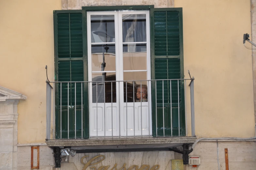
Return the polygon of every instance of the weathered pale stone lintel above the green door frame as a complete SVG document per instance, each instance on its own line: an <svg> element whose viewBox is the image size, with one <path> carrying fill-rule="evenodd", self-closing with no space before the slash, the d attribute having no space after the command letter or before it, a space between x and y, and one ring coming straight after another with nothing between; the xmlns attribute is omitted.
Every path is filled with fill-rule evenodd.
<svg viewBox="0 0 256 170"><path fill-rule="evenodd" d="M82 9L84 6L154 5L155 8L174 7L174 0L62 0L62 9Z"/></svg>

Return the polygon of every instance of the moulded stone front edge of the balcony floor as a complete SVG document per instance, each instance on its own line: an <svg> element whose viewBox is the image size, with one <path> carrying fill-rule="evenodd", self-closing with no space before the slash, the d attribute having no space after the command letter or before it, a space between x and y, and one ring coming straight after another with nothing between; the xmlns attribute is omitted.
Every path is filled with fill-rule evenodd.
<svg viewBox="0 0 256 170"><path fill-rule="evenodd" d="M194 143L196 137L162 137L162 138L90 138L90 139L58 139L46 140L49 147L64 147L64 146L116 146L116 145L156 145L158 147L179 146L183 143Z"/></svg>

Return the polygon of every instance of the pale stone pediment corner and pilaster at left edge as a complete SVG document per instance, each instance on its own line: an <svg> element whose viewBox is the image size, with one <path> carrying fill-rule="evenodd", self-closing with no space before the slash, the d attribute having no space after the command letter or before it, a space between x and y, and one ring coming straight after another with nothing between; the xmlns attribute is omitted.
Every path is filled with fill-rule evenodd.
<svg viewBox="0 0 256 170"><path fill-rule="evenodd" d="M17 105L25 99L23 94L0 86L0 170L17 169Z"/></svg>

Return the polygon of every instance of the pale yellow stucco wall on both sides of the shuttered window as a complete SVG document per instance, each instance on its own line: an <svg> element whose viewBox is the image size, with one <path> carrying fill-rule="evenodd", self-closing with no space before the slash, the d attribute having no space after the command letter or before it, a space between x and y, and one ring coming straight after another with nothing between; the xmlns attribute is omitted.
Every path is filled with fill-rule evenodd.
<svg viewBox="0 0 256 170"><path fill-rule="evenodd" d="M184 72L196 79L196 134L253 136L251 50L242 44L251 32L250 0L174 3L183 8ZM44 67L53 80L53 10L59 9L61 0L0 1L0 85L27 97L18 105L18 143L45 139Z"/></svg>

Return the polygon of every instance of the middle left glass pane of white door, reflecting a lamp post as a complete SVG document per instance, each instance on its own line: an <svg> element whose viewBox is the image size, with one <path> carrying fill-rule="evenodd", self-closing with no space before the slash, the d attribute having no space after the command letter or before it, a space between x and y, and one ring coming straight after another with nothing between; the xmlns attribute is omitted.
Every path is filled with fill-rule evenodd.
<svg viewBox="0 0 256 170"><path fill-rule="evenodd" d="M116 52L114 44L91 46L92 71L115 71ZM105 63L105 64L104 64Z"/></svg>

